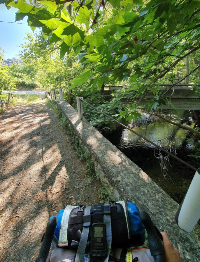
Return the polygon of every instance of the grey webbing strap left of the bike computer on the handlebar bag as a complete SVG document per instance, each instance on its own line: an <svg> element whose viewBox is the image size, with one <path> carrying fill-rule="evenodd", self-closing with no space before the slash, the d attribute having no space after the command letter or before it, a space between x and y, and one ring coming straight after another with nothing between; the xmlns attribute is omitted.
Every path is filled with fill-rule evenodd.
<svg viewBox="0 0 200 262"><path fill-rule="evenodd" d="M84 217L90 216L90 208L91 206L86 206ZM85 223L83 223L83 231L80 237L80 243L79 243L78 250L76 253L75 262L82 262L84 254L85 254L85 248L87 245L87 239L88 239L88 234L89 234L89 229L90 229L90 223L86 223L86 226L84 226L84 224Z"/></svg>

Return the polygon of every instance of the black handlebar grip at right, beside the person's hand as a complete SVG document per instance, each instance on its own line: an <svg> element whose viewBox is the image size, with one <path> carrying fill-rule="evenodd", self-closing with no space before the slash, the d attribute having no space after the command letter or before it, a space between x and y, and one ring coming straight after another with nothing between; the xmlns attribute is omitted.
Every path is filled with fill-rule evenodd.
<svg viewBox="0 0 200 262"><path fill-rule="evenodd" d="M164 247L149 214L146 211L141 211L140 218L148 234L149 249L151 251L151 255L154 256L154 261L164 262Z"/></svg>

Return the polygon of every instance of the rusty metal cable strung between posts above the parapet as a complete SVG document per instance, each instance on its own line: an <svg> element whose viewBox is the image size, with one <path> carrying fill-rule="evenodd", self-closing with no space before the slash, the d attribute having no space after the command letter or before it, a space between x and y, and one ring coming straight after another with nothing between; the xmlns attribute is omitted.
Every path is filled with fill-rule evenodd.
<svg viewBox="0 0 200 262"><path fill-rule="evenodd" d="M68 93L72 94L73 96L76 96L75 94L73 94L72 92L70 92L67 89L64 89L62 87L63 90L67 91ZM141 137L142 139L144 139L145 141L147 141L148 143L152 144L153 146L155 146L156 148L162 150L163 152L165 152L166 154L168 154L169 156L175 158L177 161L179 161L180 163L184 164L185 166L191 168L194 171L197 171L197 168L195 168L194 166L188 164L187 162L185 162L184 160L180 159L178 156L175 156L174 154L172 154L171 152L167 151L166 149L162 148L161 146L158 146L157 144L155 144L154 142L150 141L149 139L147 139L146 137L143 137L142 135L140 135L139 133L135 132L134 130L132 130L131 128L127 127L126 125L120 123L119 121L117 121L116 119L112 118L111 116L107 115L106 113L104 113L103 111L99 110L98 108L96 108L95 106L92 106L91 104L89 104L87 101L81 99L79 96L76 96L78 99L80 99L80 101L84 102L85 104L88 104L89 106L91 106L92 108L96 109L97 111L99 111L100 113L102 113L104 116L112 119L114 122L118 123L119 125L121 125L122 127L128 129L129 131L133 132L134 134L136 134L137 136Z"/></svg>

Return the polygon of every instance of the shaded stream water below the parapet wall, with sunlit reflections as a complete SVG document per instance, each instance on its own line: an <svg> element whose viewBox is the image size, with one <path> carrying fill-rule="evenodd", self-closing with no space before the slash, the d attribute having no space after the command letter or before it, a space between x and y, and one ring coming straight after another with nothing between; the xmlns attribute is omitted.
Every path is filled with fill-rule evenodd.
<svg viewBox="0 0 200 262"><path fill-rule="evenodd" d="M169 111L166 110L165 113L169 114ZM179 123L194 125L189 111L180 110L171 113L172 118ZM133 128L143 136L145 129L145 121L143 125ZM106 138L147 173L175 201L178 203L182 201L194 176L194 170L172 157L169 157L169 161L168 158L164 160L159 149L127 129L115 131ZM146 138L176 154L192 166L196 168L200 166L198 159L189 156L194 153L194 138L187 130L157 118L155 122L147 126ZM163 151L161 154L163 157L166 156ZM161 158L165 162L162 168Z"/></svg>

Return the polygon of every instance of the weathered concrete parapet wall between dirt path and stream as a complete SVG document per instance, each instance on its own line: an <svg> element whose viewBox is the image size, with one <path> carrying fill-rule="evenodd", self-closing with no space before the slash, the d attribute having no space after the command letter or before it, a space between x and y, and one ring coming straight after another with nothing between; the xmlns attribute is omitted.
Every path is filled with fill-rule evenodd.
<svg viewBox="0 0 200 262"><path fill-rule="evenodd" d="M140 210L147 211L158 229L167 232L184 261L199 262L199 225L196 225L190 233L181 230L174 221L179 205L90 123L85 119L78 120L77 111L66 101L54 100L54 102L90 152L95 170L108 192L117 199L134 202Z"/></svg>

